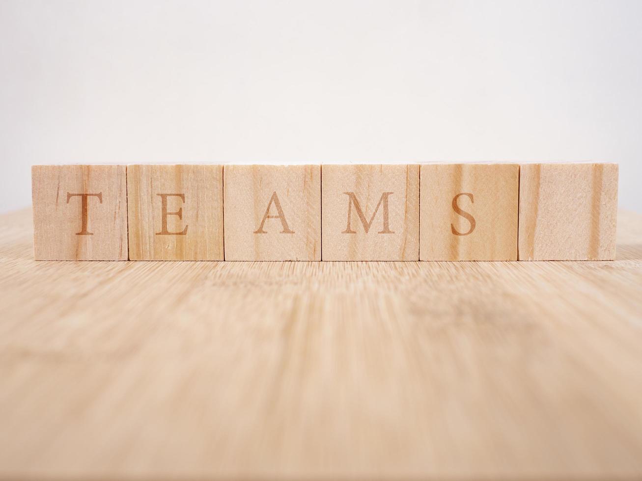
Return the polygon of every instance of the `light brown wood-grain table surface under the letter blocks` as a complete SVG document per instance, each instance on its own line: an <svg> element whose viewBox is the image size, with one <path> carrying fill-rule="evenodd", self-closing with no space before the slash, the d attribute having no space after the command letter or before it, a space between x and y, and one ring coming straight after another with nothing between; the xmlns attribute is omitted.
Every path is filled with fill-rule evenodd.
<svg viewBox="0 0 642 481"><path fill-rule="evenodd" d="M0 477L641 478L615 262L35 262L0 216Z"/></svg>

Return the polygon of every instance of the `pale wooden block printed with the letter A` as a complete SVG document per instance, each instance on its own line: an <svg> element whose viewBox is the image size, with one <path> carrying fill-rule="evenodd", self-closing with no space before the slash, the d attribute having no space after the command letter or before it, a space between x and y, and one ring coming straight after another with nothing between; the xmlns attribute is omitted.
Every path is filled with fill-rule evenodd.
<svg viewBox="0 0 642 481"><path fill-rule="evenodd" d="M320 165L225 165L225 260L321 260Z"/></svg>

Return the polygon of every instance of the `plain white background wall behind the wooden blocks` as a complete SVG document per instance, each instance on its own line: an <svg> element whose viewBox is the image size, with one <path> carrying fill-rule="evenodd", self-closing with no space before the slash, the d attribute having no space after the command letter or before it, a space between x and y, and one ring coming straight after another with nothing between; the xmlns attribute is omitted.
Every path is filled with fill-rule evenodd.
<svg viewBox="0 0 642 481"><path fill-rule="evenodd" d="M0 0L0 210L31 164L620 163L642 1Z"/></svg>

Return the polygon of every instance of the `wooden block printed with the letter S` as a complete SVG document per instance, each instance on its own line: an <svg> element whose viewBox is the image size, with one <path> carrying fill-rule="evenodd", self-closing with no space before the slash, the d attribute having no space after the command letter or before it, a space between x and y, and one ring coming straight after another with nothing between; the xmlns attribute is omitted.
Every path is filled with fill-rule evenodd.
<svg viewBox="0 0 642 481"><path fill-rule="evenodd" d="M421 166L421 260L517 260L519 165Z"/></svg>

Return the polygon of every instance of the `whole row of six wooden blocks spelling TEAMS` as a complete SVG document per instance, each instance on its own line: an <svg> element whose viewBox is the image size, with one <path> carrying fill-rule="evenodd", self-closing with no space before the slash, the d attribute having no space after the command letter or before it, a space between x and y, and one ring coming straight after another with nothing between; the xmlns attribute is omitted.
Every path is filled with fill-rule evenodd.
<svg viewBox="0 0 642 481"><path fill-rule="evenodd" d="M617 164L35 165L37 260L611 260Z"/></svg>

